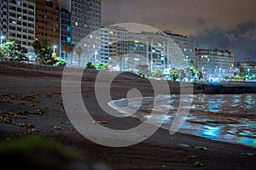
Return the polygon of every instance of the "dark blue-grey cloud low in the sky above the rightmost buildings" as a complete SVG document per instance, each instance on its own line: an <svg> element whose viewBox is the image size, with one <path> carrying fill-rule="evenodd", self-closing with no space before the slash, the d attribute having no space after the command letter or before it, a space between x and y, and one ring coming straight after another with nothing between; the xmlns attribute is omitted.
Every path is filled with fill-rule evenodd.
<svg viewBox="0 0 256 170"><path fill-rule="evenodd" d="M241 24L232 31L218 29L191 38L197 42L197 48L227 48L235 54L237 61L245 57L256 61L255 31L256 20Z"/></svg>

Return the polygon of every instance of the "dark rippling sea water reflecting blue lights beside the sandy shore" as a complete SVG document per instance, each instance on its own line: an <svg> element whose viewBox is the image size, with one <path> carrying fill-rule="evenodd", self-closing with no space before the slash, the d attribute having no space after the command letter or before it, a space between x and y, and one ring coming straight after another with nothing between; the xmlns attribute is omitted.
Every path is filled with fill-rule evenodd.
<svg viewBox="0 0 256 170"><path fill-rule="evenodd" d="M178 132L256 147L256 94L194 94L193 97L182 98L173 94L159 98L162 99L156 101L151 99L155 102L154 105L152 102L140 105L141 103L137 101L141 99L130 99L129 105L123 105L125 108L123 111L122 107L118 110L120 114L125 114L129 112L127 111L129 108L134 111L139 104L143 109L139 114L132 116L142 121L145 119L164 121L161 127L169 129L177 114L180 101L186 102L192 99L192 105L183 105L184 108L189 107L189 115L183 117L184 122ZM121 100L124 104L124 99ZM158 114L151 116L150 110L157 111ZM164 114L166 110L168 115Z"/></svg>

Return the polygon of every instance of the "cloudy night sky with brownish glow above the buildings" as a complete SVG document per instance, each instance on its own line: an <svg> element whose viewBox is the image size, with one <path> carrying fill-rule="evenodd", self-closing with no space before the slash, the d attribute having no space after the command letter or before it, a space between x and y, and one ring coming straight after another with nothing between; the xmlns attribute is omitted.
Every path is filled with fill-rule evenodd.
<svg viewBox="0 0 256 170"><path fill-rule="evenodd" d="M65 2L65 0L61 0ZM67 2L67 1L66 1ZM102 0L102 26L139 23L256 61L256 0Z"/></svg>

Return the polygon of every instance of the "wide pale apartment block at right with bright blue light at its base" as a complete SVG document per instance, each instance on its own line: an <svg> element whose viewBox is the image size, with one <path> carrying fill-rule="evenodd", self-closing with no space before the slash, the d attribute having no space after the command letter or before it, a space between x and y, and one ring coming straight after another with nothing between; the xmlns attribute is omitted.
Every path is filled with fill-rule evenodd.
<svg viewBox="0 0 256 170"><path fill-rule="evenodd" d="M234 76L234 54L228 49L195 49L195 65L207 79Z"/></svg>

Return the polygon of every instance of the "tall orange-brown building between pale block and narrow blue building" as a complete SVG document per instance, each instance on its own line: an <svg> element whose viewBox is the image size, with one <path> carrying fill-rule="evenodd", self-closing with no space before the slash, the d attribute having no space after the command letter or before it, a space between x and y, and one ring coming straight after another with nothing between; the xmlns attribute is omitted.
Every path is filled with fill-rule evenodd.
<svg viewBox="0 0 256 170"><path fill-rule="evenodd" d="M57 0L37 0L36 7L36 38L40 42L48 42L59 55L60 5Z"/></svg>

